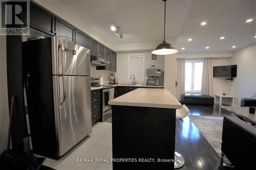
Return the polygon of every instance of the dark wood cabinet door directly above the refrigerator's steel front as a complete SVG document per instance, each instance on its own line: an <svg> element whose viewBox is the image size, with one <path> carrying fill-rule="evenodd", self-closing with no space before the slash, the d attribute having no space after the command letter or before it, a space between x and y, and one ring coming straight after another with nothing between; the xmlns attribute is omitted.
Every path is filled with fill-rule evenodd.
<svg viewBox="0 0 256 170"><path fill-rule="evenodd" d="M57 17L55 18L55 33L57 37L75 42L75 28Z"/></svg>

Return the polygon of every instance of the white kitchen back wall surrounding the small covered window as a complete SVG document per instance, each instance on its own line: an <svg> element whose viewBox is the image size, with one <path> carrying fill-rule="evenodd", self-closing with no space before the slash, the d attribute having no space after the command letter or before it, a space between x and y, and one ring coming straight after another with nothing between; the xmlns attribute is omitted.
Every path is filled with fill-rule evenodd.
<svg viewBox="0 0 256 170"><path fill-rule="evenodd" d="M164 70L164 56L157 56L157 60L152 60L151 52L144 53L122 53L117 54L117 72L116 78L118 78L119 83L127 83L128 78L128 55L144 54L145 55L145 64L144 64L144 81L137 83L146 83L146 68L150 68L152 65L155 65L156 68L161 68ZM164 73L165 74L165 73Z"/></svg>

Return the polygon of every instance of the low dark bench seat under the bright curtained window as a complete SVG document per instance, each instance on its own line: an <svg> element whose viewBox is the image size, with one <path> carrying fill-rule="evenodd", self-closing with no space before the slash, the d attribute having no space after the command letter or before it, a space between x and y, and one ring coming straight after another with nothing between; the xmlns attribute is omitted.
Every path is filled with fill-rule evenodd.
<svg viewBox="0 0 256 170"><path fill-rule="evenodd" d="M197 105L214 105L214 98L206 94L182 94L182 103Z"/></svg>

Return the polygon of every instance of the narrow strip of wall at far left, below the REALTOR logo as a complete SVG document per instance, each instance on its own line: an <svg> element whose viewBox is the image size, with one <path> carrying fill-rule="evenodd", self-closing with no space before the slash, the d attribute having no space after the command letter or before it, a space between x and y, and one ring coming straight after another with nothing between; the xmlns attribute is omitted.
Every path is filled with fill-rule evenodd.
<svg viewBox="0 0 256 170"><path fill-rule="evenodd" d="M8 108L6 36L0 36L0 154L7 149Z"/></svg>

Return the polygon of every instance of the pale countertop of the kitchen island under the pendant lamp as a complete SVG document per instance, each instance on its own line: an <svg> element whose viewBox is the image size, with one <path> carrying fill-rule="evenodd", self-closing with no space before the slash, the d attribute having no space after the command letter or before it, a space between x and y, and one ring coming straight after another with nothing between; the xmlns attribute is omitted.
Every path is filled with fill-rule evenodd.
<svg viewBox="0 0 256 170"><path fill-rule="evenodd" d="M137 88L109 101L110 105L180 109L182 106L167 89Z"/></svg>

